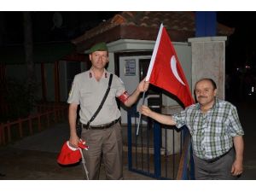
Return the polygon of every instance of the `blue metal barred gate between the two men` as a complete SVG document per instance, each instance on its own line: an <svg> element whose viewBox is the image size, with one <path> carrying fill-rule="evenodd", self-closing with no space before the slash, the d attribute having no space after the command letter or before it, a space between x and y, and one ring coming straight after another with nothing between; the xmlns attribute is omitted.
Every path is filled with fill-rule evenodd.
<svg viewBox="0 0 256 192"><path fill-rule="evenodd" d="M157 179L176 179L183 148L183 136L187 130L181 129L177 134L174 126L160 125L152 119L145 118L143 120L146 124L141 123L137 136L138 116L136 108L128 110L129 170Z"/></svg>

